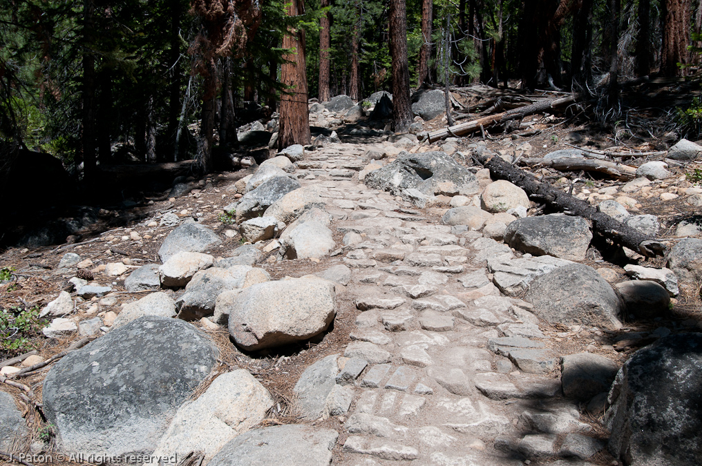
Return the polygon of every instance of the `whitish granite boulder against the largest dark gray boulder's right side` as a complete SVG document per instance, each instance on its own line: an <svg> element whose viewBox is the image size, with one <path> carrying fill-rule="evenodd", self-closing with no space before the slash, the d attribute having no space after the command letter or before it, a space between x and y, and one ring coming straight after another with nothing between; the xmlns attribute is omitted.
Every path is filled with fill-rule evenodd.
<svg viewBox="0 0 702 466"><path fill-rule="evenodd" d="M249 371L222 374L197 400L178 409L153 456L183 458L200 451L209 461L227 441L265 419L271 406L270 393Z"/></svg>

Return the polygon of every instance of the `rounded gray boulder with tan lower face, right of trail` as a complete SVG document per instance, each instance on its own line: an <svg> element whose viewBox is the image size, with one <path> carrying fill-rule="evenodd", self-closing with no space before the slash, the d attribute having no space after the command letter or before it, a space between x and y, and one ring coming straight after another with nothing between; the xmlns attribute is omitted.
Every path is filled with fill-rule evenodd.
<svg viewBox="0 0 702 466"><path fill-rule="evenodd" d="M527 300L534 305L534 313L550 324L621 328L621 300L587 265L566 265L541 275L531 282Z"/></svg>

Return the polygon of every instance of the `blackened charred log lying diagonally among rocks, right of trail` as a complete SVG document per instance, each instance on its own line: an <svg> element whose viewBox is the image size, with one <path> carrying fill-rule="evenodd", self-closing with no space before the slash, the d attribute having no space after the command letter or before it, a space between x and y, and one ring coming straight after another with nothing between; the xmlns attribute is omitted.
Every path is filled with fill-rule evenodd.
<svg viewBox="0 0 702 466"><path fill-rule="evenodd" d="M534 176L511 166L500 157L485 151L482 154L476 154L475 158L485 168L489 169L493 178L508 180L512 184L521 187L527 192L529 199L533 201L543 202L559 211L569 213L569 215L578 215L590 220L593 232L611 239L615 244L625 246L645 257L655 257L665 253L665 245L654 237L624 225L606 213L597 211L597 208L590 206L585 201L581 201L550 185L538 182Z"/></svg>

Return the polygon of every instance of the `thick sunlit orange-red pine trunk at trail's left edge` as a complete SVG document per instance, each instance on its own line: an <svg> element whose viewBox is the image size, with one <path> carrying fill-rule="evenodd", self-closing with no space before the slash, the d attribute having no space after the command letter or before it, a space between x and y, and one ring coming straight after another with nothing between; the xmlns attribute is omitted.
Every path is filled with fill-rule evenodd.
<svg viewBox="0 0 702 466"><path fill-rule="evenodd" d="M292 0L288 7L289 16L305 12L303 0ZM285 55L281 81L290 86L288 93L281 96L280 128L278 145L281 149L293 144L310 143L310 123L307 109L307 74L305 72L305 32L289 29L283 36L283 48L292 49L293 54Z"/></svg>

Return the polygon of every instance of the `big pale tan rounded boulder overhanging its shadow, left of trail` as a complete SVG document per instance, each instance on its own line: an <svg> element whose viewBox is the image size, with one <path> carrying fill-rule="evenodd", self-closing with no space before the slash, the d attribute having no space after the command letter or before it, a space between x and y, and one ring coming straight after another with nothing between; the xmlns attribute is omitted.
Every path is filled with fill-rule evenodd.
<svg viewBox="0 0 702 466"><path fill-rule="evenodd" d="M331 281L290 279L246 288L227 303L229 333L240 347L263 349L307 340L336 315Z"/></svg>

